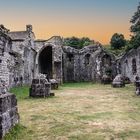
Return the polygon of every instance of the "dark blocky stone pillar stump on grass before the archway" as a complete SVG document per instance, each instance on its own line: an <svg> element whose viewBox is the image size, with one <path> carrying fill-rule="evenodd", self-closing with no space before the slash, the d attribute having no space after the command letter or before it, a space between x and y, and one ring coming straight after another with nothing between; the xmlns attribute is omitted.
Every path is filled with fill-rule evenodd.
<svg viewBox="0 0 140 140"><path fill-rule="evenodd" d="M44 98L54 96L54 93L51 93L51 83L48 82L45 75L40 74L32 80L29 96Z"/></svg>

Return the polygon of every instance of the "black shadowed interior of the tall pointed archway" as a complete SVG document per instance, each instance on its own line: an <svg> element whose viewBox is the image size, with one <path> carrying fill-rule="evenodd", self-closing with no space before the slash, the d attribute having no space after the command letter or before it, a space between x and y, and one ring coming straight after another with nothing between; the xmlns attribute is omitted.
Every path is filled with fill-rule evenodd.
<svg viewBox="0 0 140 140"><path fill-rule="evenodd" d="M47 46L39 55L39 72L52 78L52 47Z"/></svg>

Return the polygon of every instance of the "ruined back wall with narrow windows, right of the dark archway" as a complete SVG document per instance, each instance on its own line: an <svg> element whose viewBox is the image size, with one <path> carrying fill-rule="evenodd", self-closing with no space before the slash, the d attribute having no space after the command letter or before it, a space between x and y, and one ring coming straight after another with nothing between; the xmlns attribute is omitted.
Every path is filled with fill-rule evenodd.
<svg viewBox="0 0 140 140"><path fill-rule="evenodd" d="M104 56L107 58L104 60ZM115 58L107 54L100 44L84 47L81 50L63 47L64 82L100 81L107 68L113 72ZM108 63L104 63L108 62Z"/></svg>

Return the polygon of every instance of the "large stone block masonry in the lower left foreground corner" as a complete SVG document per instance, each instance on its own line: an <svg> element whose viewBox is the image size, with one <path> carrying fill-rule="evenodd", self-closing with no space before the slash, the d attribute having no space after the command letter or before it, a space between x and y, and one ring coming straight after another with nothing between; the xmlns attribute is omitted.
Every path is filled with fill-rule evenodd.
<svg viewBox="0 0 140 140"><path fill-rule="evenodd" d="M0 80L0 139L19 123L17 99L7 92L5 82Z"/></svg>

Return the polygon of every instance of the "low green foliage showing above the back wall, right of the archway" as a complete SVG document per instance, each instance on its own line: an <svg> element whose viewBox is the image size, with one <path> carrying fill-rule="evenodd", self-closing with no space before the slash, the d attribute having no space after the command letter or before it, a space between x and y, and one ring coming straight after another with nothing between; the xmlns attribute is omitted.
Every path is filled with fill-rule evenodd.
<svg viewBox="0 0 140 140"><path fill-rule="evenodd" d="M71 46L75 49L82 49L83 47L88 46L90 44L94 44L94 41L90 40L88 37L83 38L71 37L64 39L65 46Z"/></svg>

